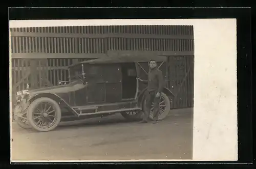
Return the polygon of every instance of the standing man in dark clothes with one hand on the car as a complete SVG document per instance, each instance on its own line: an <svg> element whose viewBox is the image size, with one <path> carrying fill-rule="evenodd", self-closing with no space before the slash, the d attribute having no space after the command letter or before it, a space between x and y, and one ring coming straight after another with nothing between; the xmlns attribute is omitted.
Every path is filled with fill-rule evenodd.
<svg viewBox="0 0 256 169"><path fill-rule="evenodd" d="M150 117L150 109L152 102L154 102L154 114L153 121L157 123L159 116L159 102L161 97L161 92L163 88L163 75L162 71L157 68L157 63L155 60L150 60L150 71L148 72L148 79L140 81L147 83L147 90L145 91L146 96L146 109L144 111L144 118L141 123L147 123Z"/></svg>

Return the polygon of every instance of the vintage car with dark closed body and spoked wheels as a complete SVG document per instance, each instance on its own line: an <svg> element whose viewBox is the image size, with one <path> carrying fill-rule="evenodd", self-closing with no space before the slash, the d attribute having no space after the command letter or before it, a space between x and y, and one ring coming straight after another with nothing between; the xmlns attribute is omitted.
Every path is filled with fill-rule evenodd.
<svg viewBox="0 0 256 169"><path fill-rule="evenodd" d="M128 120L141 120L145 106L148 61L155 59L168 81L166 57L106 57L69 67L69 81L59 86L17 92L14 119L20 127L44 132L60 121L74 121L120 113ZM173 93L165 83L159 120L170 111ZM152 114L150 116L152 119Z"/></svg>

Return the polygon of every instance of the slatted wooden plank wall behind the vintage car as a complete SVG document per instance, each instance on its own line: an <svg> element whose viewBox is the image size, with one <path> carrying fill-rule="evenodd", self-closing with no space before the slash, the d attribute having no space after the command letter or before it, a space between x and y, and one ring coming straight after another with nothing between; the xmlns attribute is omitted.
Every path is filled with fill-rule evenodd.
<svg viewBox="0 0 256 169"><path fill-rule="evenodd" d="M25 89L27 83L32 88L57 85L59 79L68 80L69 65L88 60L92 54L106 54L109 51L191 52L191 57L181 56L173 60L175 64L170 74L175 72L176 75L172 78L175 78L176 86L187 72L186 65L194 62L194 31L190 25L17 27L10 31L12 84L17 86L13 93ZM36 60L32 61L31 58L26 58L26 53L38 56L40 53L47 54L40 58L34 57ZM54 53L66 55L54 58ZM82 55L78 57L82 53L84 58ZM23 54L24 58L20 58L19 54ZM24 78L26 71L31 69L31 63L35 64L36 71L31 71L33 73ZM187 78L191 81L194 74L190 71ZM176 91L178 97L188 99L176 100L175 107L193 106L193 99L190 97L193 91L189 87L191 82L188 81L185 80L180 89L174 89L179 89L178 93Z"/></svg>

